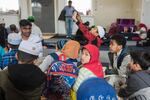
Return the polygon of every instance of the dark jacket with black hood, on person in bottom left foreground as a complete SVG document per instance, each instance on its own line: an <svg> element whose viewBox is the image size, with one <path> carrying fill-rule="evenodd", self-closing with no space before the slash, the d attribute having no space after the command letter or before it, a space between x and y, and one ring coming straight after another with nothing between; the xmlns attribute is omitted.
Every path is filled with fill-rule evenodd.
<svg viewBox="0 0 150 100"><path fill-rule="evenodd" d="M0 72L0 100L40 100L45 78L35 65L9 66Z"/></svg>

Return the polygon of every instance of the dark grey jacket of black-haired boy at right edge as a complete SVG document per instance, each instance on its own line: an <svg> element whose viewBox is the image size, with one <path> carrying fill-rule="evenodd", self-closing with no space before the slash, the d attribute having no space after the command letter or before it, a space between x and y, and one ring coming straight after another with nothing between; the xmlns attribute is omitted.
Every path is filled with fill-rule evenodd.
<svg viewBox="0 0 150 100"><path fill-rule="evenodd" d="M128 98L132 94L148 87L150 87L150 74L145 71L134 72L131 73L127 79L127 87L120 89L118 95L120 97Z"/></svg>

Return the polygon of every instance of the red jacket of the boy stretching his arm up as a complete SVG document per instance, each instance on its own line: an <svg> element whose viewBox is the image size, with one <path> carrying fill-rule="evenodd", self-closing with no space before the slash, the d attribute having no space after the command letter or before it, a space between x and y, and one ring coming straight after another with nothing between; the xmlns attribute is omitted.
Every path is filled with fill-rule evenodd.
<svg viewBox="0 0 150 100"><path fill-rule="evenodd" d="M87 38L89 44L92 44L92 41L94 41L96 39L97 40L96 46L98 48L101 46L103 41L100 37L94 36L82 22L77 22L77 25L78 25L79 29L82 31L84 37Z"/></svg>

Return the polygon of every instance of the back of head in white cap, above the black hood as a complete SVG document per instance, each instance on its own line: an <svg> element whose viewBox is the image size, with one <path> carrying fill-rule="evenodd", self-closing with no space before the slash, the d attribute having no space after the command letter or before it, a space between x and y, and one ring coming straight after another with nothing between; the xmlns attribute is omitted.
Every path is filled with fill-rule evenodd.
<svg viewBox="0 0 150 100"><path fill-rule="evenodd" d="M35 64L39 54L40 49L37 43L23 40L19 45L16 57L19 64Z"/></svg>

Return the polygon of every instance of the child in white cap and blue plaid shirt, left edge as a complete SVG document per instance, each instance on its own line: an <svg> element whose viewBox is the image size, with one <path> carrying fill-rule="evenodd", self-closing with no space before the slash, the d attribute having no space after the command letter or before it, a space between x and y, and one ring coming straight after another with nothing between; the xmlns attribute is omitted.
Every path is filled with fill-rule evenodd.
<svg viewBox="0 0 150 100"><path fill-rule="evenodd" d="M18 61L15 57L16 52L18 51L18 46L21 42L21 36L16 33L11 33L8 35L8 53L2 56L2 60L0 62L0 68L4 69L8 65L17 64Z"/></svg>

